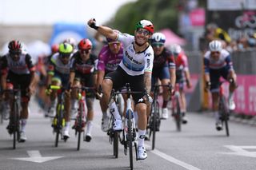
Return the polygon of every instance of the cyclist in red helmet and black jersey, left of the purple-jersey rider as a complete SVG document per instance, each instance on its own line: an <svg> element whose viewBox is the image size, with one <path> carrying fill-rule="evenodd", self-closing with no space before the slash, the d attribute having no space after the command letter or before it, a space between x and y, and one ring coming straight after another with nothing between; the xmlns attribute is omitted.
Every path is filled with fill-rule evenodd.
<svg viewBox="0 0 256 170"><path fill-rule="evenodd" d="M74 53L70 69L70 84L72 87L95 88L97 79L98 58L91 53L92 43L89 39L82 39L78 44L78 52ZM72 90L72 97L78 98L77 90ZM84 140L90 142L92 121L94 118L94 89L86 89L86 136Z"/></svg>

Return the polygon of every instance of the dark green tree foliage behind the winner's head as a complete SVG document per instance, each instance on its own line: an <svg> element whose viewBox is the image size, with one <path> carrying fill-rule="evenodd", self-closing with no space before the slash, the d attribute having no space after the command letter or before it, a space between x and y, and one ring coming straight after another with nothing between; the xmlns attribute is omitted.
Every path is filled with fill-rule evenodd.
<svg viewBox="0 0 256 170"><path fill-rule="evenodd" d="M138 0L122 6L108 23L110 27L123 33L134 34L135 24L142 20L150 20L155 30L178 29L178 0Z"/></svg>

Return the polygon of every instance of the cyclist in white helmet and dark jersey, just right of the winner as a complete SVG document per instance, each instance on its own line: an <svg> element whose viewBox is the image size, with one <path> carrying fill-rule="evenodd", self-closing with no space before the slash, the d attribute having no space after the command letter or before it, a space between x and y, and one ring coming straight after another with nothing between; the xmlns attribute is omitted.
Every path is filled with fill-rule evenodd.
<svg viewBox="0 0 256 170"><path fill-rule="evenodd" d="M175 85L175 63L174 57L168 49L165 48L166 36L162 33L154 33L150 39L151 45L154 49L154 64L152 71L151 86L153 87L155 81L158 79L162 85ZM153 92L154 89L151 89ZM170 100L170 93L167 87L163 87L162 92L163 103L162 103L162 118L168 118L167 103Z"/></svg>

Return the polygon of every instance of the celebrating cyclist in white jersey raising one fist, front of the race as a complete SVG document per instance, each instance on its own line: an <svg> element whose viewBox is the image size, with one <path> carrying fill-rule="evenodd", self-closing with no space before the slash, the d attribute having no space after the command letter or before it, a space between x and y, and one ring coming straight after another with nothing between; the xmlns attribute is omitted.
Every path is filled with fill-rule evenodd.
<svg viewBox="0 0 256 170"><path fill-rule="evenodd" d="M124 56L118 69L108 73L102 81L103 102L107 105L110 101L110 93L122 88L126 83L130 83L132 91L144 91L147 93L151 89L151 73L154 61L154 51L148 42L154 33L154 26L150 21L142 20L135 26L134 36L130 34L118 34L106 26L97 26L94 18L88 21L88 25L106 38L111 38L122 42L124 46ZM132 95L135 102L135 109L138 112L138 159L144 160L147 157L144 147L144 138L146 134L146 101L142 98L144 94L138 93ZM114 130L122 129L121 116L118 113L116 105L113 108L110 103L110 109L114 109Z"/></svg>

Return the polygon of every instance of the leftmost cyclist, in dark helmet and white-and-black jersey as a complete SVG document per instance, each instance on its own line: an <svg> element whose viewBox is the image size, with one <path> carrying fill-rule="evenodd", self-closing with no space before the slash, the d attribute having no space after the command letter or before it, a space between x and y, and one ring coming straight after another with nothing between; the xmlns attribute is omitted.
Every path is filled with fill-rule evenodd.
<svg viewBox="0 0 256 170"><path fill-rule="evenodd" d="M2 57L2 89L5 90L13 85L14 89L21 89L21 133L20 133L20 141L26 141L26 121L28 119L28 105L30 102L30 96L34 93L34 85L35 85L35 66L32 63L30 54L26 53L22 50L21 42L17 40L13 40L9 42L8 45L9 53L6 53ZM8 85L10 84L10 85ZM9 86L9 87L8 87ZM11 122L14 117L12 106L12 97L10 97L10 93L4 94L6 98L10 99L10 122L7 126L8 132L10 134L13 133L13 122Z"/></svg>

